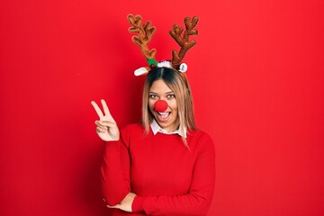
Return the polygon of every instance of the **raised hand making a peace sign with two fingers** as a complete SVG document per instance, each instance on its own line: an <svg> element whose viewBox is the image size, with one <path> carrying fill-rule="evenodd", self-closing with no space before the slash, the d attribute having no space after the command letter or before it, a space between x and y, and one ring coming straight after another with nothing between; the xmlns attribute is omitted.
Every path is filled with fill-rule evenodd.
<svg viewBox="0 0 324 216"><path fill-rule="evenodd" d="M116 121L113 120L112 114L109 112L107 103L102 99L101 103L103 104L103 112L94 101L91 104L94 106L95 112L99 116L99 121L94 121L96 131L101 139L104 141L112 141L120 139L120 131L117 127ZM104 115L103 115L104 113Z"/></svg>

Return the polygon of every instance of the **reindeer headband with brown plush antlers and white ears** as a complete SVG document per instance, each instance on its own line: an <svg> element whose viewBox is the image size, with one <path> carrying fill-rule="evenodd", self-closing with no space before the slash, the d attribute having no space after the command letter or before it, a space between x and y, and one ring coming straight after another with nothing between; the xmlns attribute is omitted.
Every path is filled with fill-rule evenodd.
<svg viewBox="0 0 324 216"><path fill-rule="evenodd" d="M184 18L185 24L185 31L182 27L179 27L177 24L174 24L173 29L169 31L169 34L172 38L180 46L180 51L176 52L176 50L172 51L172 60L171 61L162 61L157 62L156 54L157 49L149 49L148 43L152 39L156 28L152 26L152 23L148 21L148 23L142 24L142 17L140 15L133 16L132 14L128 15L128 20L132 27L130 27L130 32L138 33L138 36L132 36L131 40L139 45L139 49L147 58L148 67L140 67L139 69L135 70L135 76L145 75L148 74L152 68L155 67L170 67L175 68L175 70L184 73L187 70L187 65L185 63L181 63L184 59L186 52L193 48L196 44L195 40L189 40L191 35L197 35L198 31L194 29L196 24L198 23L199 18L197 16L193 16L193 19L190 17ZM184 31L184 35L182 33Z"/></svg>

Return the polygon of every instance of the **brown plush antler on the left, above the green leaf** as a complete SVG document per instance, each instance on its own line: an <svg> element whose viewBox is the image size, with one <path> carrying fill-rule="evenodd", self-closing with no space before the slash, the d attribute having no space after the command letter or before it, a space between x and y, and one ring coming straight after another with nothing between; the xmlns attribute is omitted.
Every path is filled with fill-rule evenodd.
<svg viewBox="0 0 324 216"><path fill-rule="evenodd" d="M133 40L134 43L139 45L139 48L145 58L155 59L157 50L156 49L149 50L148 43L152 39L152 36L155 33L156 28L152 26L152 24L149 21L148 23L141 25L142 17L140 15L136 15L134 17L132 14L129 14L127 18L130 24L132 25L129 31L139 33L139 36L133 36L131 40Z"/></svg>

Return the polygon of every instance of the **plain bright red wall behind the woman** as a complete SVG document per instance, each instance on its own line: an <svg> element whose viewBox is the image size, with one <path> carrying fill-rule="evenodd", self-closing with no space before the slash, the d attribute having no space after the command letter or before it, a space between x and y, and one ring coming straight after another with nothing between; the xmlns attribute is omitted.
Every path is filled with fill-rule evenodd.
<svg viewBox="0 0 324 216"><path fill-rule="evenodd" d="M171 4L172 3L172 4ZM216 145L209 215L324 214L324 2L0 3L0 214L109 215L91 100L122 127L140 120L146 65L127 14L157 26L151 48L198 15L185 62L195 115Z"/></svg>

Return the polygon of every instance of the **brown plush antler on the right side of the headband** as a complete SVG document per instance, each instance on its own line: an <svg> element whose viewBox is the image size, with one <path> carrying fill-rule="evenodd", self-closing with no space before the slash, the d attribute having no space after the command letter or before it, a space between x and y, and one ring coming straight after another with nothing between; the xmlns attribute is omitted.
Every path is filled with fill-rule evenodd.
<svg viewBox="0 0 324 216"><path fill-rule="evenodd" d="M185 31L182 27L179 27L177 24L174 24L173 30L169 31L169 34L175 41L180 45L181 49L179 53L176 50L172 51L172 66L177 68L180 65L180 62L185 56L185 53L191 49L195 44L195 40L189 41L190 35L197 35L198 31L194 29L196 24L198 23L199 18L197 16L193 16L193 20L190 17L184 18ZM184 37L181 38L181 33L184 31Z"/></svg>

